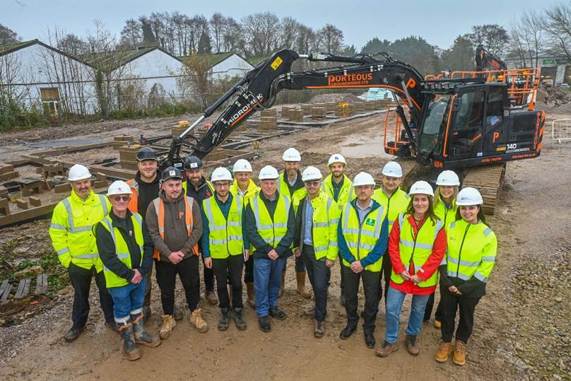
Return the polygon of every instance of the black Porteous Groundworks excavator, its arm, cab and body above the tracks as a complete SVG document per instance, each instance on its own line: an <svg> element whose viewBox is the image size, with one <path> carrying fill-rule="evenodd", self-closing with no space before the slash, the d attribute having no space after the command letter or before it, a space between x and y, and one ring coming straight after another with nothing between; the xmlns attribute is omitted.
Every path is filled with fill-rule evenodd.
<svg viewBox="0 0 571 381"><path fill-rule="evenodd" d="M297 59L332 62L336 66L291 71ZM271 107L283 89L372 87L387 88L396 95L395 112L401 119L402 131L392 144L385 145L391 155L416 158L421 165L442 169L505 163L535 158L541 153L545 112L512 110L506 83L486 78L425 81L413 66L387 53L343 57L283 49L249 71L173 138L161 166L181 165L182 146L204 158L257 110ZM189 135L220 107L223 110L201 139Z"/></svg>

